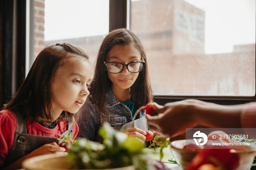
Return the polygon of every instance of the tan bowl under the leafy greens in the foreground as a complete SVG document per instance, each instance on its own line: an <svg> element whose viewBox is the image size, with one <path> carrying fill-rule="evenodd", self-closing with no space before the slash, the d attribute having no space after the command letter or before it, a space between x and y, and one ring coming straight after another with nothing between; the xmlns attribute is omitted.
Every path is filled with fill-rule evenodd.
<svg viewBox="0 0 256 170"><path fill-rule="evenodd" d="M26 170L70 170L70 164L63 154L48 154L26 159L22 162ZM134 166L105 170L135 170Z"/></svg>

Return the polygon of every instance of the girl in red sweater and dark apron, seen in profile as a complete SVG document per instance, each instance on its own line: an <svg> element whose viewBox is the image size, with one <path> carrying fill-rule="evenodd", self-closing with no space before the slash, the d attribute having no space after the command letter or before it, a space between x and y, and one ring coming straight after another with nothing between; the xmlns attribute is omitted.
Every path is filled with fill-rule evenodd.
<svg viewBox="0 0 256 170"><path fill-rule="evenodd" d="M65 152L60 135L75 139L74 113L84 104L91 79L89 57L67 43L38 54L15 97L0 111L0 169L20 169L30 157Z"/></svg>

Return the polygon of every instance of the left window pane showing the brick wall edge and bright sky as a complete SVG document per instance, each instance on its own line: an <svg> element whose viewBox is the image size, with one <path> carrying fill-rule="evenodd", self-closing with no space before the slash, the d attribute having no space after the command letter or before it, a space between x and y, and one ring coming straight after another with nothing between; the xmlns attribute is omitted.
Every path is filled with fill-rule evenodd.
<svg viewBox="0 0 256 170"><path fill-rule="evenodd" d="M34 58L46 46L70 43L83 48L94 63L109 32L108 0L34 0Z"/></svg>

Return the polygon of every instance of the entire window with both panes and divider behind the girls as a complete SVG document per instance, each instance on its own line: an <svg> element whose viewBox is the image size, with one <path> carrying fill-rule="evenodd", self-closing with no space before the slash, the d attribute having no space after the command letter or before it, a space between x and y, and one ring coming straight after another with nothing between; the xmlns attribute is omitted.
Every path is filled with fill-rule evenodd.
<svg viewBox="0 0 256 170"><path fill-rule="evenodd" d="M125 20L120 1L34 0L34 57L49 43L67 42L82 47L94 63L111 23L113 27L109 3L116 5L117 27ZM255 3L128 1L127 27L144 45L154 94L254 100Z"/></svg>

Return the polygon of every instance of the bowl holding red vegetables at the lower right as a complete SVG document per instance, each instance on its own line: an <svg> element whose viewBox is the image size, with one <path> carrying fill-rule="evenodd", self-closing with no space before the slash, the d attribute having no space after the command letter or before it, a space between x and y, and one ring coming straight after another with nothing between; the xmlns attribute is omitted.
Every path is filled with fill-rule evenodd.
<svg viewBox="0 0 256 170"><path fill-rule="evenodd" d="M200 152L200 149L183 149L185 145L186 140L175 140L170 144L173 157L182 169L186 169L189 162ZM240 157L237 170L250 170L256 156L256 149L238 149L236 152Z"/></svg>

